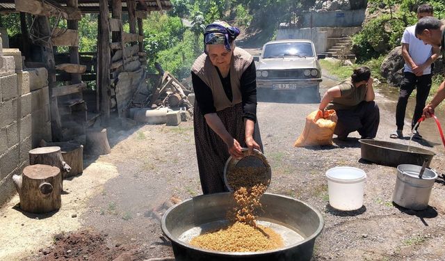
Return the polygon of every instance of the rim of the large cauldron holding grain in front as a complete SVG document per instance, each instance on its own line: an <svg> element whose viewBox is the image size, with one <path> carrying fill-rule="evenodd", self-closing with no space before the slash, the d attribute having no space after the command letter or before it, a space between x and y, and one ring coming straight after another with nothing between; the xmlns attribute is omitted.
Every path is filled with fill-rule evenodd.
<svg viewBox="0 0 445 261"><path fill-rule="evenodd" d="M249 256L254 257L255 255L264 255L264 254L270 254L270 253L275 253L275 252L284 251L284 250L286 250L286 249L294 248L294 247L296 247L296 246L299 246L299 245L305 244L305 243L307 243L307 242L310 242L310 241L312 241L312 240L315 240L315 238L318 237L318 235L321 234L321 231L323 230L323 228L324 228L324 226L325 226L325 221L324 221L324 219L323 219L323 216L322 216L321 212L320 212L318 209L316 209L315 207L312 207L312 205L309 205L309 204L307 204L307 203L305 203L305 202L302 202L301 200L298 200L298 199L296 199L296 198L291 198L291 197L289 197L289 196L283 196L283 195L279 195L279 194L275 194L275 193L264 193L264 195L268 195L268 196L276 196L276 197L280 197L280 198L288 198L288 199L290 199L290 200L298 201L298 203L301 203L302 205L306 205L307 207L309 207L309 209L312 209L312 211L315 212L315 214L318 216L318 220L320 221L320 223L318 224L318 228L316 229L316 231L315 231L314 233L312 233L312 235L309 235L309 237L306 237L305 239L303 239L303 240L300 241L300 242L297 242L297 243L295 243L295 244L291 244L291 245L289 245L289 246L284 246L284 247L282 247L282 248L277 248L277 249L274 249L274 250L269 250L269 251L257 251L257 252L223 252L223 251L211 251L211 250L204 249L204 248L197 248L197 247L195 247L195 246L192 246L191 244L186 244L186 243L182 242L181 240L177 240L177 239L175 239L175 238L170 234L170 231L166 228L166 226L165 226L165 219L166 219L166 217L168 216L168 214L169 214L173 209L175 209L175 208L178 207L179 205L181 205L181 204L183 204L183 203L186 203L186 202L188 202L188 201L190 201L190 200L193 200L194 198L198 198L198 197L207 197L207 196L212 196L212 195L216 195L216 194L228 194L228 193L230 193L230 192L223 192L223 193L215 193L215 194L207 194L207 195L195 196L195 197L193 197L193 198L188 198L188 199L186 199L186 200L184 200L184 201L181 201L181 203L178 203L178 204L176 204L176 205L170 207L170 208L165 212L165 214L163 214L163 216L162 216L162 220L161 220L161 228L162 228L162 231L163 231L164 235L165 235L166 237L168 237L168 239L170 239L170 241L175 242L175 244L179 244L179 245L181 245L181 246L184 247L184 248L191 248L191 249L193 249L193 250L195 250L195 251L201 251L201 252L208 253L208 254L211 254L211 255L226 255L226 256L227 256L227 255L229 255L229 256L249 255ZM261 220L261 219L260 219L260 220Z"/></svg>

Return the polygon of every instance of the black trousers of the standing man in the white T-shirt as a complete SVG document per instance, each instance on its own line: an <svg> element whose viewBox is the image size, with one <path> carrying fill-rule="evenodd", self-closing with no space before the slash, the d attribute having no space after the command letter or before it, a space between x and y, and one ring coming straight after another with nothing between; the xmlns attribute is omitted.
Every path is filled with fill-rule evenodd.
<svg viewBox="0 0 445 261"><path fill-rule="evenodd" d="M423 108L425 108L426 98L428 98L428 94L430 93L431 76L432 74L416 76L416 74L412 72L405 72L405 76L403 77L401 84L401 92L398 95L396 108L397 129L403 129L403 125L405 122L406 105L408 103L408 98L410 97L414 88L417 88L416 109L414 109L414 116L412 117L411 127L414 127L417 120L421 118Z"/></svg>

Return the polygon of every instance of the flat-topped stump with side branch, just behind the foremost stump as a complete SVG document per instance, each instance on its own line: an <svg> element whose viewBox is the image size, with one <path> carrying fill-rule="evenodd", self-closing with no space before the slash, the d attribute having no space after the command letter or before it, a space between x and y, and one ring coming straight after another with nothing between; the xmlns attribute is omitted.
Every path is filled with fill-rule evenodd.
<svg viewBox="0 0 445 261"><path fill-rule="evenodd" d="M60 147L35 148L29 151L29 165L44 164L60 168L62 177L71 171L70 165L63 161Z"/></svg>

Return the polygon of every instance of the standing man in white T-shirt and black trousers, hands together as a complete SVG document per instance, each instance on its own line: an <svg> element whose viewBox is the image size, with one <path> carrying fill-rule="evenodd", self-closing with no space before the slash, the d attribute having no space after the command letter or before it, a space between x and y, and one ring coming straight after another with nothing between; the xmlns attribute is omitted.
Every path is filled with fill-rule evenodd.
<svg viewBox="0 0 445 261"><path fill-rule="evenodd" d="M422 4L417 8L417 18L432 16L432 6ZM396 108L396 125L397 130L390 135L393 139L403 138L403 125L405 123L405 111L414 88L416 93L416 108L412 117L411 127L421 118L425 102L430 93L432 69L431 64L439 57L439 50L433 49L431 45L425 45L421 40L416 38L416 26L410 26L403 33L402 56L405 60L404 76L401 82L401 91L398 96ZM422 136L416 129L412 130L413 139L422 139Z"/></svg>

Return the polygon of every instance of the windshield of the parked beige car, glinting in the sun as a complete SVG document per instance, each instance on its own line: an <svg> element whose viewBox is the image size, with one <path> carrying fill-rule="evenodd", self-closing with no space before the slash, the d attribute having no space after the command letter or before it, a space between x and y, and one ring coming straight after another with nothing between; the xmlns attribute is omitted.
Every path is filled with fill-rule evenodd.
<svg viewBox="0 0 445 261"><path fill-rule="evenodd" d="M263 58L280 58L284 56L314 56L310 42L280 42L266 45Z"/></svg>

